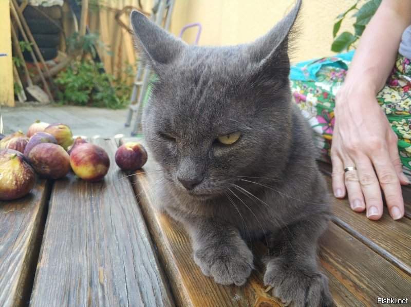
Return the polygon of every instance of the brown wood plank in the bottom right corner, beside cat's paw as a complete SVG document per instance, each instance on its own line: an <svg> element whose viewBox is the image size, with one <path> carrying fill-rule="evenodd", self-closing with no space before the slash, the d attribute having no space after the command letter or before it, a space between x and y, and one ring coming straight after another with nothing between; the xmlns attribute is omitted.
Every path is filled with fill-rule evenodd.
<svg viewBox="0 0 411 307"><path fill-rule="evenodd" d="M337 305L374 306L378 297L409 296L411 277L338 225L330 224L321 238L320 256ZM347 296L342 289L335 291L336 280L344 285L351 296Z"/></svg>

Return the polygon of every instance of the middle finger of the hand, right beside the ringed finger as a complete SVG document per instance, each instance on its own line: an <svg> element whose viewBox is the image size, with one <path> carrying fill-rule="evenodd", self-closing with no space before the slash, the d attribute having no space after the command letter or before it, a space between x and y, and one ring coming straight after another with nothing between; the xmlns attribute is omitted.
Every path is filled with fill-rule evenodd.
<svg viewBox="0 0 411 307"><path fill-rule="evenodd" d="M354 161L357 176L367 208L367 218L378 220L382 216L382 195L380 183L367 156L360 156Z"/></svg>

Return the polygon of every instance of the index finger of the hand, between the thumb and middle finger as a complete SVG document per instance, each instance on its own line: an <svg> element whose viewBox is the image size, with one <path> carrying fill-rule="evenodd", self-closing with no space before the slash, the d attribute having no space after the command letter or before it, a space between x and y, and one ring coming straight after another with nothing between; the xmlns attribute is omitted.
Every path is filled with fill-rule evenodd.
<svg viewBox="0 0 411 307"><path fill-rule="evenodd" d="M385 201L391 217L398 220L404 216L404 200L401 185L394 165L389 156L376 156L373 165L377 172L380 186L384 191Z"/></svg>

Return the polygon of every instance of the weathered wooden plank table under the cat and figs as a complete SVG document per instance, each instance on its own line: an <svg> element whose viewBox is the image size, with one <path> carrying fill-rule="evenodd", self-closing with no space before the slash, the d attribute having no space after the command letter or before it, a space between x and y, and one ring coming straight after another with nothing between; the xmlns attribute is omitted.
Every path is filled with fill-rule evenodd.
<svg viewBox="0 0 411 307"><path fill-rule="evenodd" d="M0 202L0 306L278 306L266 293L260 256L244 287L204 277L180 224L158 213L158 166L132 176L114 163L114 140L94 140L111 159L101 182L38 180L26 197ZM329 168L321 166L330 184ZM347 200L321 239L320 263L338 306L411 299L411 189L406 216L379 221L354 213Z"/></svg>

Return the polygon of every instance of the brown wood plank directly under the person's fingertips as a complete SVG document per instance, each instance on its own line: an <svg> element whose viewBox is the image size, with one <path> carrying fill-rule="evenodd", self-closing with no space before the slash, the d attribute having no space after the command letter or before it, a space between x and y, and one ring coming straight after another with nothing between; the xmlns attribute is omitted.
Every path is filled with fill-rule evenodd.
<svg viewBox="0 0 411 307"><path fill-rule="evenodd" d="M325 178L331 189L331 178ZM381 219L371 221L365 213L353 212L347 198L332 198L331 206L337 217L334 219L335 223L388 261L411 274L411 220L406 217L398 221L393 220L384 206Z"/></svg>

